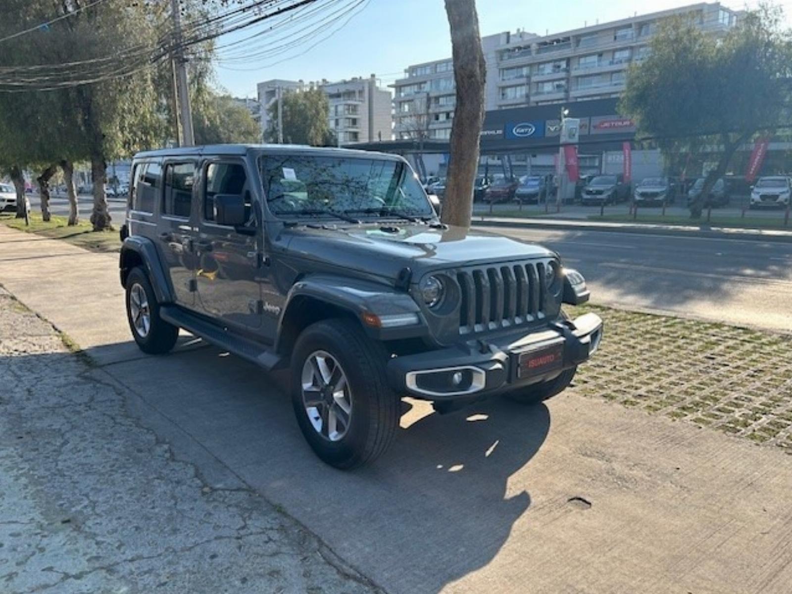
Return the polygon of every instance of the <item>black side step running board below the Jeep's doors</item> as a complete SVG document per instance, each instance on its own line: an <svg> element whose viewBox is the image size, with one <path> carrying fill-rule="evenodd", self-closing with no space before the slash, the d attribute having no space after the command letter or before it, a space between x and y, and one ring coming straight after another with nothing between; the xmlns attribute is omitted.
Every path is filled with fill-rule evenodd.
<svg viewBox="0 0 792 594"><path fill-rule="evenodd" d="M184 328L189 333L203 338L204 341L210 342L219 348L225 348L227 351L233 352L234 355L241 356L242 359L264 367L267 371L276 370L285 363L284 358L271 348L249 341L246 338L233 336L223 328L190 314L180 307L162 306L159 309L159 315L166 322L173 324L173 326Z"/></svg>

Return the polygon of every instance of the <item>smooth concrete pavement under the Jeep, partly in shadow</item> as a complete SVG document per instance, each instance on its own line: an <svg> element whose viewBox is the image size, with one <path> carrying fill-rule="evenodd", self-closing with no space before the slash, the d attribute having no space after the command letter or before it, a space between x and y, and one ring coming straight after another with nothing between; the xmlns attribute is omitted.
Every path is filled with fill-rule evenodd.
<svg viewBox="0 0 792 594"><path fill-rule="evenodd" d="M215 348L137 352L115 257L0 226L0 284L85 348L178 456L230 470L392 594L789 592L781 451L569 390L447 417L414 403L388 455L341 473L256 367Z"/></svg>

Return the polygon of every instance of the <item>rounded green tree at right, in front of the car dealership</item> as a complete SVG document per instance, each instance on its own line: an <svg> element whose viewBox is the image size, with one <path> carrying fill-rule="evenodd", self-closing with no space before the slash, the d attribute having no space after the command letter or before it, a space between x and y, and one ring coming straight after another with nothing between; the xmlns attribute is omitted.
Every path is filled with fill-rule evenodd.
<svg viewBox="0 0 792 594"><path fill-rule="evenodd" d="M786 124L792 36L776 10L746 13L725 34L705 34L687 17L661 25L651 53L630 67L620 111L656 139L669 163L680 154L717 162L691 216L744 143ZM706 155L705 155L706 153Z"/></svg>

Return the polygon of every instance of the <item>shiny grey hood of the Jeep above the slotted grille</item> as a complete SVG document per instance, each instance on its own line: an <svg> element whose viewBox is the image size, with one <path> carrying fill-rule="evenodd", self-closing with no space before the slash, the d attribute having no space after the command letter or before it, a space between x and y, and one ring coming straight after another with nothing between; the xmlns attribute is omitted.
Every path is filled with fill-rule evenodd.
<svg viewBox="0 0 792 594"><path fill-rule="evenodd" d="M554 252L486 231L464 227L432 229L420 224L363 224L353 227L294 227L276 240L291 257L315 261L320 269L345 268L366 276L395 279L402 268L413 278L428 270L478 262L546 257Z"/></svg>

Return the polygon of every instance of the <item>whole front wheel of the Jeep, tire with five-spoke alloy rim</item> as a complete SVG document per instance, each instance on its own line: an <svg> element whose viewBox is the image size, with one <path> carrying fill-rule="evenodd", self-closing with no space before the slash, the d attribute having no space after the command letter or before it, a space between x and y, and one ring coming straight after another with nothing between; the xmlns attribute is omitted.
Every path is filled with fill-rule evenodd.
<svg viewBox="0 0 792 594"><path fill-rule="evenodd" d="M356 322L303 330L291 356L291 402L311 449L330 466L370 463L394 439L399 398L385 380L387 353Z"/></svg>

